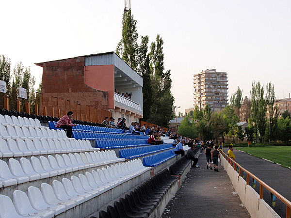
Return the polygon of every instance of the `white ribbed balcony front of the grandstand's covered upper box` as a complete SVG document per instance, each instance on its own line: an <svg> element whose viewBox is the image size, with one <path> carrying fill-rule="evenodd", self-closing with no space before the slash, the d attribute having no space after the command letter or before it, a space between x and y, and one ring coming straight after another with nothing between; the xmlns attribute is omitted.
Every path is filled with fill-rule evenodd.
<svg viewBox="0 0 291 218"><path fill-rule="evenodd" d="M143 114L143 108L140 104L117 93L114 93L114 106L115 108L124 109L131 113Z"/></svg>

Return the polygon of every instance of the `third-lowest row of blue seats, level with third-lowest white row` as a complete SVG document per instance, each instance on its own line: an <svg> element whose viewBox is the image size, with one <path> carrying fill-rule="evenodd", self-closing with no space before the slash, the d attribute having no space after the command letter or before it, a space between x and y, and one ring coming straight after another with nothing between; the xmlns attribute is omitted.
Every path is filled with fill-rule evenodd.
<svg viewBox="0 0 291 218"><path fill-rule="evenodd" d="M97 148L113 149L113 148L127 148L127 147L140 147L151 145L147 143L147 140L143 139L100 139L96 140Z"/></svg>

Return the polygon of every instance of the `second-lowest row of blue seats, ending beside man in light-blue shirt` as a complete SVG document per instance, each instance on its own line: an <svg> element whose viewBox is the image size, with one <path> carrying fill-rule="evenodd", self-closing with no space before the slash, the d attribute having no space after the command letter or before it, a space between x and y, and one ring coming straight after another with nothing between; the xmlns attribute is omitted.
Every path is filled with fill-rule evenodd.
<svg viewBox="0 0 291 218"><path fill-rule="evenodd" d="M173 148L172 144L159 144L143 146L138 148L127 148L119 150L119 158L132 159L140 156L150 155L156 152L161 152Z"/></svg>

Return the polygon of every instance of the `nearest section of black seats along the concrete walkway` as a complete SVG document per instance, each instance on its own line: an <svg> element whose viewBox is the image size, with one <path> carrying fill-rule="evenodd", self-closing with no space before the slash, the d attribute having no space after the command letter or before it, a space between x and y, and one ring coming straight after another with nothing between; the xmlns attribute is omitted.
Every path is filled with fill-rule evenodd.
<svg viewBox="0 0 291 218"><path fill-rule="evenodd" d="M120 198L119 202L114 202L113 206L108 206L107 211L101 210L99 218L147 218L177 181L178 178L165 169Z"/></svg>

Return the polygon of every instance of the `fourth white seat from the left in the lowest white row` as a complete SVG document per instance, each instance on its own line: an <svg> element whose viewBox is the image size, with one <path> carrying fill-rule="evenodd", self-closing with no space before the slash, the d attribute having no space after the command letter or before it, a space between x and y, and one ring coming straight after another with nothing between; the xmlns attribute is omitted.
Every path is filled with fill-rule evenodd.
<svg viewBox="0 0 291 218"><path fill-rule="evenodd" d="M74 202L73 200L62 201L60 199L57 199L53 188L47 183L41 184L40 191L42 193L42 196L44 197L45 202L48 204L65 205L66 210L69 210L76 206L76 202Z"/></svg>

